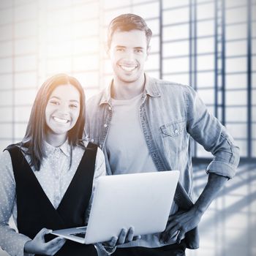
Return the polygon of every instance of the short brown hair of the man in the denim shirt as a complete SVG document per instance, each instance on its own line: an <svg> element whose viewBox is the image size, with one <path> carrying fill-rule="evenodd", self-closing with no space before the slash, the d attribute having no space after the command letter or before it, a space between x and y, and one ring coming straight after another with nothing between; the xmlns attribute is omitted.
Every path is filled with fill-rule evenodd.
<svg viewBox="0 0 256 256"><path fill-rule="evenodd" d="M152 31L148 28L146 21L138 15L126 13L111 20L108 26L108 49L110 49L112 37L115 31L131 31L133 29L145 31L148 47L152 36Z"/></svg>

